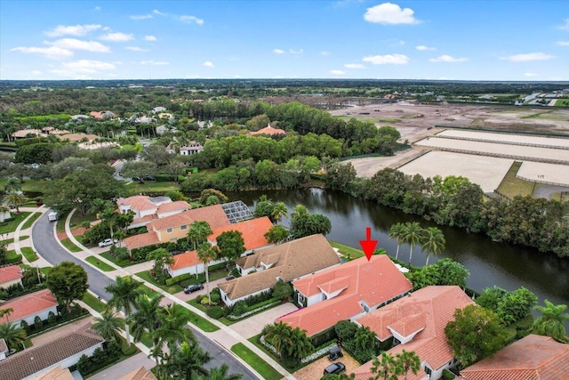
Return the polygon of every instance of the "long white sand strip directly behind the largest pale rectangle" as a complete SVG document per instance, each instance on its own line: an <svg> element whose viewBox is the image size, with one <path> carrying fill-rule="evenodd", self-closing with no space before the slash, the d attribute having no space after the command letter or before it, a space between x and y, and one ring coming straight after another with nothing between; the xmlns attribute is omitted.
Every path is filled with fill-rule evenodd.
<svg viewBox="0 0 569 380"><path fill-rule="evenodd" d="M504 143L466 141L445 139L440 137L428 137L415 142L423 147L439 148L445 150L459 150L465 153L480 152L490 156L504 156L508 158L534 158L551 159L569 164L569 150L556 150L553 148L526 147L521 145L509 145Z"/></svg>

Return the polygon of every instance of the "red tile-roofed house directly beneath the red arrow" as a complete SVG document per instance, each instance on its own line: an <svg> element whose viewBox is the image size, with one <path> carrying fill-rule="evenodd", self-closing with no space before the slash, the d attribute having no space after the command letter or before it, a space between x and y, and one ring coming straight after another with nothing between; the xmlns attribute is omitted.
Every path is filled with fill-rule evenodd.
<svg viewBox="0 0 569 380"><path fill-rule="evenodd" d="M314 336L341 320L354 320L413 289L388 255L361 257L293 281L297 301L306 308L276 319Z"/></svg>

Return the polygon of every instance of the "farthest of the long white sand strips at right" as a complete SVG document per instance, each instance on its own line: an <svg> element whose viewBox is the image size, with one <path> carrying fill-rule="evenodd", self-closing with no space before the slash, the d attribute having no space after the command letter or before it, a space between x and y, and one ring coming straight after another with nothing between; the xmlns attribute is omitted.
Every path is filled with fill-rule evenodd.
<svg viewBox="0 0 569 380"><path fill-rule="evenodd" d="M541 145L551 148L554 147L569 148L569 138L564 139L557 137L530 136L527 134L491 133L491 132L463 131L459 129L447 129L441 133L437 133L437 137L454 137L460 139L495 141L495 142L504 142L504 143L514 142L518 144Z"/></svg>

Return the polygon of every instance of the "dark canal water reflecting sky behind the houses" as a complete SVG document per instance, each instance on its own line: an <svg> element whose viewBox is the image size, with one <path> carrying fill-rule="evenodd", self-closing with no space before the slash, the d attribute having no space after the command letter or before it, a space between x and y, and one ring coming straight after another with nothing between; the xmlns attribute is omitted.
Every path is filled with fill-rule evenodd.
<svg viewBox="0 0 569 380"><path fill-rule="evenodd" d="M284 202L288 207L289 217L284 218L284 225L289 225L294 207L304 205L309 214L325 214L330 219L332 231L326 235L327 239L360 248L359 240L365 239L365 228L371 227L372 239L379 240L378 247L385 248L392 256L397 250L396 240L389 239L392 224L420 222L423 228L436 226L420 217L331 190L246 191L228 193L228 197L231 200L241 199L254 208L254 202L263 194L273 201ZM431 255L429 263L445 257L462 263L470 271L470 288L482 292L485 287L494 285L507 290L526 287L539 297L540 304L548 299L552 303L569 305L569 259L539 253L533 248L493 242L485 235L466 230L437 227L445 234L446 248L441 255ZM409 250L409 245L402 245L399 259L407 262ZM426 255L421 252L421 247L414 247L412 264L421 266L425 261Z"/></svg>

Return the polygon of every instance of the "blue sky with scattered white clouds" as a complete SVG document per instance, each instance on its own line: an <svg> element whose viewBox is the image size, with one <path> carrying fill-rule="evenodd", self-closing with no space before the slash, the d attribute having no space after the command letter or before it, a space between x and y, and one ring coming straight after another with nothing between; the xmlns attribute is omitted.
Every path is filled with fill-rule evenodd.
<svg viewBox="0 0 569 380"><path fill-rule="evenodd" d="M569 2L0 0L0 79L569 80Z"/></svg>

